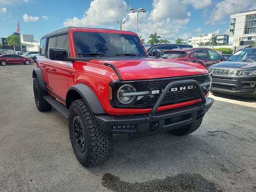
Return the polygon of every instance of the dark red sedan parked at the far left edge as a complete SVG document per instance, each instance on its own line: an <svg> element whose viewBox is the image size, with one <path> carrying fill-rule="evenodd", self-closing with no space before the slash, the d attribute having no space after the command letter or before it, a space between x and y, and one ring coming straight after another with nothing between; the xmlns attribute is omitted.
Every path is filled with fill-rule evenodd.
<svg viewBox="0 0 256 192"><path fill-rule="evenodd" d="M34 60L31 58L25 58L17 54L4 54L0 55L0 64L5 66L6 64L24 64L29 65L34 63Z"/></svg>

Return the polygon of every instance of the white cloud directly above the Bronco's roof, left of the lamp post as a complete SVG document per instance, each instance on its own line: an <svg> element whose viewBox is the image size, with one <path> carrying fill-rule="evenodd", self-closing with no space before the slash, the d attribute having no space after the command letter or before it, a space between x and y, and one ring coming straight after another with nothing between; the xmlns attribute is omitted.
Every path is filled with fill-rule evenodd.
<svg viewBox="0 0 256 192"><path fill-rule="evenodd" d="M113 26L125 17L126 11L124 0L93 0L82 18L68 18L64 26Z"/></svg>

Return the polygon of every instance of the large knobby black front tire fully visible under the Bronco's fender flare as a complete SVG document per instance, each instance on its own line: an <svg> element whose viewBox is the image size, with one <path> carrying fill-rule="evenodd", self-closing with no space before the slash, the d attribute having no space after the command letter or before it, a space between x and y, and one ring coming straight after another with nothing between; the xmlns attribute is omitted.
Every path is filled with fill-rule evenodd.
<svg viewBox="0 0 256 192"><path fill-rule="evenodd" d="M85 140L84 148L77 143L77 134L75 136L74 120L79 118L80 130ZM75 100L70 105L68 116L68 129L72 148L78 161L85 167L94 166L104 162L112 152L113 136L100 130L86 102L83 99ZM81 135L81 131L79 132ZM84 134L84 135L83 135ZM84 150L84 151L82 151Z"/></svg>

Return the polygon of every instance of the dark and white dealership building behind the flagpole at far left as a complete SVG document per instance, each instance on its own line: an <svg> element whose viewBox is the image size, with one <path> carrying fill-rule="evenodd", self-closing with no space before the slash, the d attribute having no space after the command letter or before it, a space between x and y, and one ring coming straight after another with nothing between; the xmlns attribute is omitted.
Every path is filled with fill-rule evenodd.
<svg viewBox="0 0 256 192"><path fill-rule="evenodd" d="M13 33L19 36L19 33ZM2 44L2 49L13 49L13 46L9 46L6 42L7 37L0 37L0 44ZM34 35L21 35L21 45L22 51L39 51L40 43L34 39ZM21 51L20 46L15 46L16 51Z"/></svg>

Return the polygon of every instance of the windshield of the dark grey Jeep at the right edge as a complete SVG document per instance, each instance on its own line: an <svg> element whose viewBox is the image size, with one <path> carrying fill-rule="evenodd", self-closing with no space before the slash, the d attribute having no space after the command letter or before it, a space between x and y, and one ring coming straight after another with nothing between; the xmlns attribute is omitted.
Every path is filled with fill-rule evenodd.
<svg viewBox="0 0 256 192"><path fill-rule="evenodd" d="M256 49L244 49L234 53L228 58L228 60L238 61L238 60L250 60L256 61Z"/></svg>

